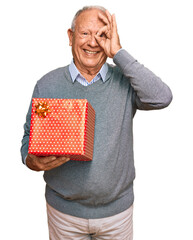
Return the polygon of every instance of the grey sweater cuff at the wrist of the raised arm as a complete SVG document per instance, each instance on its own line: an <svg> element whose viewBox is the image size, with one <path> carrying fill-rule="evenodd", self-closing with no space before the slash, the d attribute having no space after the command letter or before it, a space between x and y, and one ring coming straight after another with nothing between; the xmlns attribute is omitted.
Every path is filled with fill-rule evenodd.
<svg viewBox="0 0 193 240"><path fill-rule="evenodd" d="M125 49L120 49L114 56L113 62L124 71L125 67L128 67L128 64L136 62L136 59L132 57Z"/></svg>

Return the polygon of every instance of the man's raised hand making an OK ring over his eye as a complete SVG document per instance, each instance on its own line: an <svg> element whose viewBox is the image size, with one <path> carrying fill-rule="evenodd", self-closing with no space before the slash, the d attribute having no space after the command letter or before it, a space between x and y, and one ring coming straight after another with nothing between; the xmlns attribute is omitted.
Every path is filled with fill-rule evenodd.
<svg viewBox="0 0 193 240"><path fill-rule="evenodd" d="M98 44L104 49L106 55L113 58L119 49L121 49L115 15L111 16L106 11L106 16L99 13L99 18L105 23L105 26L99 29L95 38Z"/></svg>

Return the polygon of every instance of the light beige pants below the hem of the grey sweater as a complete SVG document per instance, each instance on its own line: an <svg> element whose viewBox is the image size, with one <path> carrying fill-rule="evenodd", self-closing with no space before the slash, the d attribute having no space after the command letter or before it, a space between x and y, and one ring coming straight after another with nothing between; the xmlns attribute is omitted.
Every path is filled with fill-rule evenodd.
<svg viewBox="0 0 193 240"><path fill-rule="evenodd" d="M47 204L50 240L132 240L133 206L112 217L84 219L57 211Z"/></svg>

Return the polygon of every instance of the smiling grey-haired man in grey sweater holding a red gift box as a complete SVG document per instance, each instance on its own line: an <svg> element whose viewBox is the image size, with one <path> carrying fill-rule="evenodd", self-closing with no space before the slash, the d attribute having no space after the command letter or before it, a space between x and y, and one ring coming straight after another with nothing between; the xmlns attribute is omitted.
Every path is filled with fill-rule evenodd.
<svg viewBox="0 0 193 240"><path fill-rule="evenodd" d="M137 109L167 107L172 93L121 47L115 15L104 8L79 10L68 37L73 61L43 76L33 97L86 98L91 103L96 112L93 161L28 154L30 105L23 162L45 171L50 239L131 240L133 117ZM107 57L115 66L106 63Z"/></svg>

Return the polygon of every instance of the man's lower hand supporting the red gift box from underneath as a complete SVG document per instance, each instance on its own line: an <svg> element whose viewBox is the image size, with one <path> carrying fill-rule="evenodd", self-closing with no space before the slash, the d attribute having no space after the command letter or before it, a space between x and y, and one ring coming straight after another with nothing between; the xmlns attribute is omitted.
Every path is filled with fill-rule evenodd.
<svg viewBox="0 0 193 240"><path fill-rule="evenodd" d="M47 171L59 167L69 160L70 158L66 158L64 156L37 157L35 155L28 154L26 158L26 164L34 171Z"/></svg>

